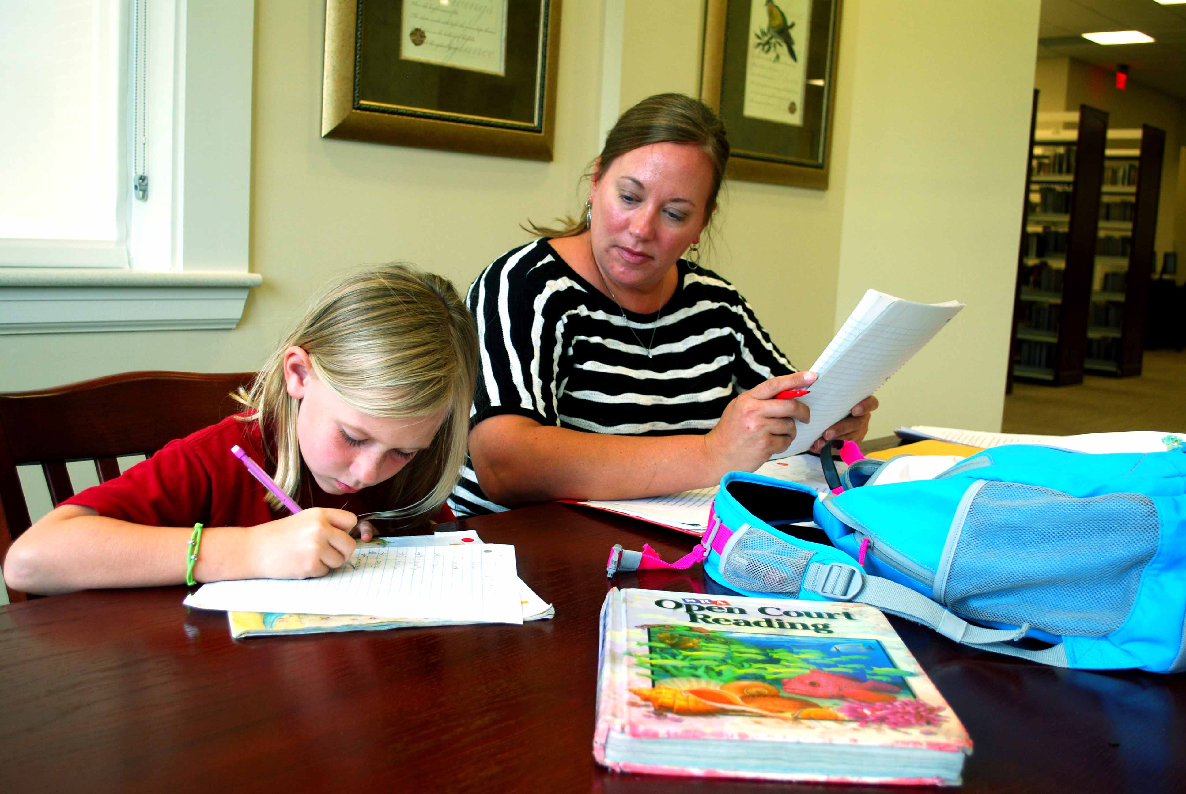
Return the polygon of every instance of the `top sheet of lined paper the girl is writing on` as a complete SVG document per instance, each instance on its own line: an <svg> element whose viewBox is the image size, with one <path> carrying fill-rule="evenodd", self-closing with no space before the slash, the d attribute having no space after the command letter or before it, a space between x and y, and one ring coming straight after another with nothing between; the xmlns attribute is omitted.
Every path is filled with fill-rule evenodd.
<svg viewBox="0 0 1186 794"><path fill-rule="evenodd" d="M213 582L185 604L242 612L523 622L515 547L500 544L357 548L324 577Z"/></svg>

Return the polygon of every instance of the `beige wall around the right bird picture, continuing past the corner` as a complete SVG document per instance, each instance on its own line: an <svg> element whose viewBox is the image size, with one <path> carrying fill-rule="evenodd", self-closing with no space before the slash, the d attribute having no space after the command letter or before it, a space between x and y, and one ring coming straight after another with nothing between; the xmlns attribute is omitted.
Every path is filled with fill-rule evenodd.
<svg viewBox="0 0 1186 794"><path fill-rule="evenodd" d="M620 107L695 85L700 15L681 5L626 0ZM801 367L866 288L968 304L884 387L872 436L1000 430L1039 4L1005 6L848 0L829 190L734 182L722 201L709 265Z"/></svg>

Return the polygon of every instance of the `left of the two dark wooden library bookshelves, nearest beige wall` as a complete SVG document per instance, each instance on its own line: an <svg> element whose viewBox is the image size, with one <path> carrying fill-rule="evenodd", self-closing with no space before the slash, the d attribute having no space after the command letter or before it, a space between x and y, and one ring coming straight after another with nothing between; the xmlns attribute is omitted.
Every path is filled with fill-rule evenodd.
<svg viewBox="0 0 1186 794"><path fill-rule="evenodd" d="M1083 382L1107 133L1108 114L1086 104L1078 113L1035 114L1014 301L1013 380Z"/></svg>

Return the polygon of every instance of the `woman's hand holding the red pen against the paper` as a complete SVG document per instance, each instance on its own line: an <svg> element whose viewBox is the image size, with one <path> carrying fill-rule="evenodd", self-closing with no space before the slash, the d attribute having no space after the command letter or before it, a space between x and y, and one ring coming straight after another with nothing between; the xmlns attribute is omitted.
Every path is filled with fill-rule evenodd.
<svg viewBox="0 0 1186 794"><path fill-rule="evenodd" d="M795 420L806 423L811 409L798 400L779 400L788 389L806 388L815 373L795 373L764 381L739 394L716 427L704 436L710 458L723 471L753 471L795 440Z"/></svg>

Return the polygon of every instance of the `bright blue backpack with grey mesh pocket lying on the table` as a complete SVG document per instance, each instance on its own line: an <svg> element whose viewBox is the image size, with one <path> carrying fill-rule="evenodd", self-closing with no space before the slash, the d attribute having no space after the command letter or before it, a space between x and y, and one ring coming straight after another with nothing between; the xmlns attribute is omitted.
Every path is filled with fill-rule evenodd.
<svg viewBox="0 0 1186 794"><path fill-rule="evenodd" d="M817 500L814 517L831 547L771 527L734 497L731 483L770 489L758 510L767 517L772 500L802 487L731 474L715 510L732 529L750 525L810 550L812 563L852 565L868 539L867 574L903 584L975 623L1035 627L1032 636L1063 643L1071 667L1186 669L1181 450L986 450L936 479L852 488ZM714 552L704 567L737 589L720 565Z"/></svg>

